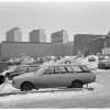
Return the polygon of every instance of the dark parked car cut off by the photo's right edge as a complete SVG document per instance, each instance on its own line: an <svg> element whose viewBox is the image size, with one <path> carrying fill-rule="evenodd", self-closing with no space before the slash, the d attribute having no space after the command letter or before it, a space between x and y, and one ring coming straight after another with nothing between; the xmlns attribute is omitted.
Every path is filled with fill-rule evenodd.
<svg viewBox="0 0 110 110"><path fill-rule="evenodd" d="M110 69L110 59L99 61L98 68L100 68L100 69Z"/></svg>

